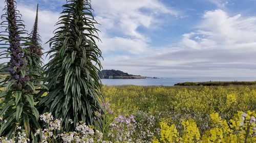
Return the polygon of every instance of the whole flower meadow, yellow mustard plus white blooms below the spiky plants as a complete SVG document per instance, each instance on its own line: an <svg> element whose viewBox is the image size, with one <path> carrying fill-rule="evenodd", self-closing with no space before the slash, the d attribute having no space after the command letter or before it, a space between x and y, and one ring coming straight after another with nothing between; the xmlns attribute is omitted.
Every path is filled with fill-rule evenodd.
<svg viewBox="0 0 256 143"><path fill-rule="evenodd" d="M76 131L61 132L61 119L45 113L45 128L35 136L42 142L256 142L254 86L104 86L103 94L105 113L96 113L103 127L80 122ZM16 140L29 142L26 133Z"/></svg>

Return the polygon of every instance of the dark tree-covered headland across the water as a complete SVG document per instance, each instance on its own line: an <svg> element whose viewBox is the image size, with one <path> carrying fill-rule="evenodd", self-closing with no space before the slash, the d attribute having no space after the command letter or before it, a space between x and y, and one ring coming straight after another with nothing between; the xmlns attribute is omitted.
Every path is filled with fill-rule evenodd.
<svg viewBox="0 0 256 143"><path fill-rule="evenodd" d="M102 70L99 72L100 78L103 79L143 79L146 78L140 75L132 75L120 70Z"/></svg>

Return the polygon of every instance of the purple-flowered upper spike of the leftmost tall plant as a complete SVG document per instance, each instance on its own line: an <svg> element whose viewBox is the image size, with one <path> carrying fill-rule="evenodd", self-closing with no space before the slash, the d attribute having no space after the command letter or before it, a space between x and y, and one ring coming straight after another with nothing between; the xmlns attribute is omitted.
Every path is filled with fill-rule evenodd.
<svg viewBox="0 0 256 143"><path fill-rule="evenodd" d="M22 20L17 19L15 10L15 1L6 1L8 30L9 30L9 53L10 53L10 81L14 81L13 88L21 91L29 80L25 76L27 61L24 59L24 52L21 48L23 38L20 34L23 31L24 25Z"/></svg>

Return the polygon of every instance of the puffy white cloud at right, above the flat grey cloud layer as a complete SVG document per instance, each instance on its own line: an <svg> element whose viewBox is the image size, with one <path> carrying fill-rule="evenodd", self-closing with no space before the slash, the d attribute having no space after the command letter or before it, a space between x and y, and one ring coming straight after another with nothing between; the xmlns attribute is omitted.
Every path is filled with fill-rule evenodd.
<svg viewBox="0 0 256 143"><path fill-rule="evenodd" d="M253 43L256 39L256 17L230 17L223 10L207 11L199 30L184 34L181 45L190 48L231 47L238 44Z"/></svg>

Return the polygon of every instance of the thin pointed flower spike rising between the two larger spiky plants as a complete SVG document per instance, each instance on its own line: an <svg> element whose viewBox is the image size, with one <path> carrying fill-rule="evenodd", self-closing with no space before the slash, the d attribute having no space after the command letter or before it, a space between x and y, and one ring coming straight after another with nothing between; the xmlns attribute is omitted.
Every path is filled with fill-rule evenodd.
<svg viewBox="0 0 256 143"><path fill-rule="evenodd" d="M41 47L41 40L40 35L38 34L38 4L36 9L36 17L35 17L35 23L32 29L32 32L30 33L30 46L28 48L29 50L29 56L31 59L29 59L29 65L30 69L37 71L39 73L42 73L41 68L41 56L42 56L42 47Z"/></svg>

